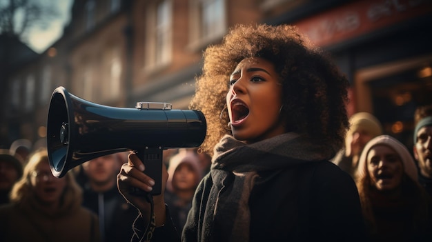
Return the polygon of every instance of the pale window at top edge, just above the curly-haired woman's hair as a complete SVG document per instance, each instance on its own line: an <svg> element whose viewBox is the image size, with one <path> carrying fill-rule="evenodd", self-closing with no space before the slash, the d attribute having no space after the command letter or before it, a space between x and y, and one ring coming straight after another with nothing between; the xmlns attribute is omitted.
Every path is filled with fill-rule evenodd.
<svg viewBox="0 0 432 242"><path fill-rule="evenodd" d="M226 33L225 0L190 0L190 43L202 48Z"/></svg>

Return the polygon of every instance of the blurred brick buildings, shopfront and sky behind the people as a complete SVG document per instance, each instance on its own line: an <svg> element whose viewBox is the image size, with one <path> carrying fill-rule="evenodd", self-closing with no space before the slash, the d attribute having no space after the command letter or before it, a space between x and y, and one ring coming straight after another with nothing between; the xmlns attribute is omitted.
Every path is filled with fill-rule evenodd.
<svg viewBox="0 0 432 242"><path fill-rule="evenodd" d="M412 147L432 103L429 0L0 0L0 148L46 145L58 86L91 102L187 109L202 51L236 23L290 23L348 77L348 113L371 112Z"/></svg>

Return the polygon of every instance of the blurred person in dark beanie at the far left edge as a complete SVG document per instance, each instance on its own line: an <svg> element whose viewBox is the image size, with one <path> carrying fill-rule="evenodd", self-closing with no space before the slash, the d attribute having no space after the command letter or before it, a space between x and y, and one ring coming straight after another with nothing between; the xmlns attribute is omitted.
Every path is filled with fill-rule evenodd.
<svg viewBox="0 0 432 242"><path fill-rule="evenodd" d="M0 204L9 203L10 190L22 175L21 162L9 150L0 150Z"/></svg>

